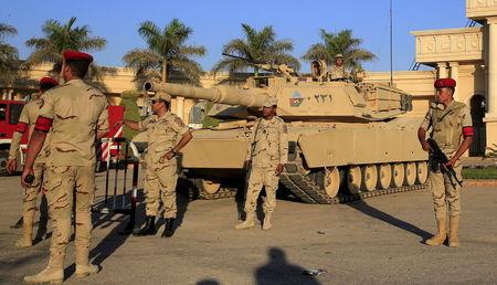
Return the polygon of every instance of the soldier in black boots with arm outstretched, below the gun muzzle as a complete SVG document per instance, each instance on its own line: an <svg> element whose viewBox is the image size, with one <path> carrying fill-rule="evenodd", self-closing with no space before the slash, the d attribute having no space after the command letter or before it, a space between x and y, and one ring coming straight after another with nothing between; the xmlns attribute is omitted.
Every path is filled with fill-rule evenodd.
<svg viewBox="0 0 497 285"><path fill-rule="evenodd" d="M156 217L159 214L160 201L162 201L166 225L161 236L170 238L175 234L173 222L177 213L176 156L190 141L192 135L181 118L170 112L171 96L169 94L157 93L150 103L154 115L139 123L123 122L133 129L146 131L148 137L144 186L147 219L144 228L135 232L135 235L156 233Z"/></svg>

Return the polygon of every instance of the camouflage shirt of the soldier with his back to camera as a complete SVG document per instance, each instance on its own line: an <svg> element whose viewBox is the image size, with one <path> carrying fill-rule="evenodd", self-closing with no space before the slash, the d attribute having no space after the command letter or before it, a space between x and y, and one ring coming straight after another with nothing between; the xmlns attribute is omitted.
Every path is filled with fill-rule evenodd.
<svg viewBox="0 0 497 285"><path fill-rule="evenodd" d="M108 131L107 98L82 80L45 92L40 116L53 119L47 162L53 166L95 165L95 135Z"/></svg>

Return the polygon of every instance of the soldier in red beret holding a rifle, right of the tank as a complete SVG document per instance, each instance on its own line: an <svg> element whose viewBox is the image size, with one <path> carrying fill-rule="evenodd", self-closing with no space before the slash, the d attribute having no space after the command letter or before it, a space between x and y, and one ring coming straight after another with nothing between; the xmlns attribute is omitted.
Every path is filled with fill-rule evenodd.
<svg viewBox="0 0 497 285"><path fill-rule="evenodd" d="M430 137L436 141L442 151L450 158L445 165L453 168L457 179L462 180L459 157L473 142L473 126L469 109L464 103L453 98L456 82L453 78L435 81L435 102L430 105L424 120L417 130L417 138L425 151L432 151L426 141L426 131L431 127ZM448 246L459 246L461 187L430 163L430 187L433 194L437 233L425 241L429 245L440 245L447 238L447 207L450 217Z"/></svg>

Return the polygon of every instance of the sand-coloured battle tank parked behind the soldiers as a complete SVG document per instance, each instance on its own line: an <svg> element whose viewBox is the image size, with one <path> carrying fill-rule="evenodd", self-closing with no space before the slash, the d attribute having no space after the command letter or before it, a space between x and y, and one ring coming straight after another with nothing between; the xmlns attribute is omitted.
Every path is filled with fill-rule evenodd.
<svg viewBox="0 0 497 285"><path fill-rule="evenodd" d="M220 114L230 106L237 110L236 119L193 130L181 150L183 175L203 196L226 197L245 181L251 119L268 96L278 98L277 115L288 128L281 183L302 201L338 203L425 187L427 154L416 137L422 118L409 114L411 95L352 78L332 81L322 61L311 63L309 76L286 65L257 67L272 74L248 77L242 87L145 83L149 92L225 104Z"/></svg>

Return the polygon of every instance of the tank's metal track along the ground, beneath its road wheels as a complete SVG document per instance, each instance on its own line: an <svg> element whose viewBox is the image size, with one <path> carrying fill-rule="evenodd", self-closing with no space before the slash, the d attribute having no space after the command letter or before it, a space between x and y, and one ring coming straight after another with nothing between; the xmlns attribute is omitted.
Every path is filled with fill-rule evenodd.
<svg viewBox="0 0 497 285"><path fill-rule="evenodd" d="M389 188L374 190L371 192L359 192L356 194L348 193L348 191L340 191L335 198L328 197L321 187L316 183L309 176L302 173L299 169L303 166L300 160L288 161L286 165L286 171L279 176L279 182L282 182L292 193L306 203L319 203L319 204L337 204L356 200L363 200L371 197L393 194L406 191L423 190L426 188L424 184L404 186L399 188Z"/></svg>

